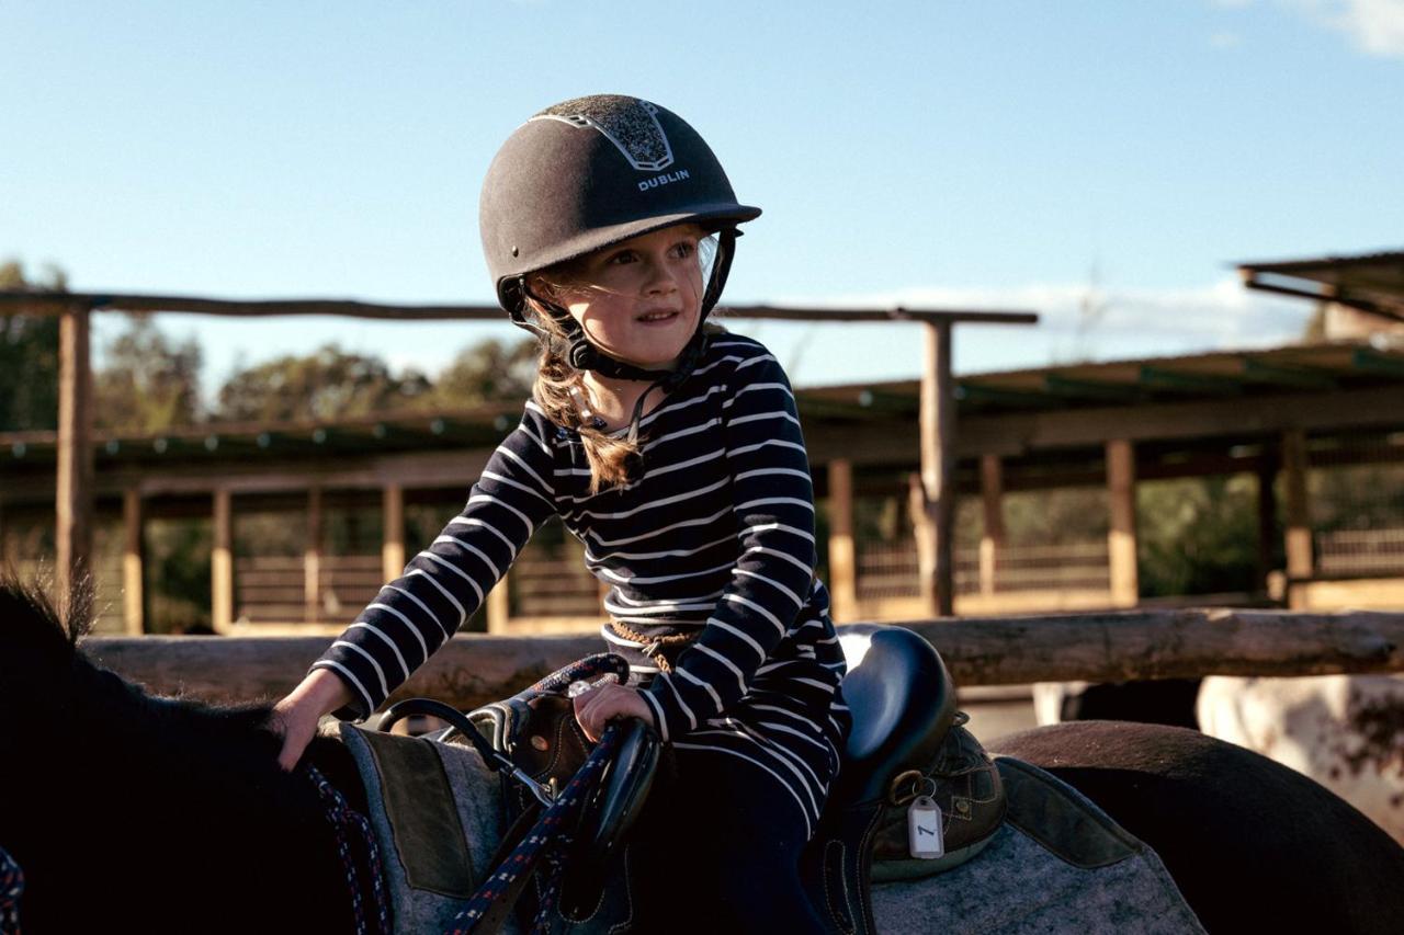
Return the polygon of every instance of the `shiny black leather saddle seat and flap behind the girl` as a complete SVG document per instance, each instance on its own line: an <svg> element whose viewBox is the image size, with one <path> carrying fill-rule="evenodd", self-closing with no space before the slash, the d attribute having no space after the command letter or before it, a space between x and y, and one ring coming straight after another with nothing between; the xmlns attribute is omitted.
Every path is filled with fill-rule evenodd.
<svg viewBox="0 0 1404 935"><path fill-rule="evenodd" d="M814 906L845 935L872 935L872 837L892 781L925 769L956 719L951 674L925 639L900 626L840 628L852 733L804 859Z"/></svg>

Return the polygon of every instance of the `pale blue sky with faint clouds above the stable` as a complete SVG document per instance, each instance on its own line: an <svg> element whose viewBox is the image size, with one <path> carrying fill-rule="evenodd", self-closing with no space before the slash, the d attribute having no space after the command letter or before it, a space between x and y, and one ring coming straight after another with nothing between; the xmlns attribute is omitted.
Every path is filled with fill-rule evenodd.
<svg viewBox="0 0 1404 935"><path fill-rule="evenodd" d="M1310 306L1234 264L1404 248L1404 0L0 0L0 261L487 305L487 164L592 93L682 115L764 208L726 300L1043 316L958 327L958 373L1290 341ZM327 343L432 373L519 334L159 324L209 387ZM98 354L121 327L98 316ZM914 326L733 327L797 385L921 368Z"/></svg>

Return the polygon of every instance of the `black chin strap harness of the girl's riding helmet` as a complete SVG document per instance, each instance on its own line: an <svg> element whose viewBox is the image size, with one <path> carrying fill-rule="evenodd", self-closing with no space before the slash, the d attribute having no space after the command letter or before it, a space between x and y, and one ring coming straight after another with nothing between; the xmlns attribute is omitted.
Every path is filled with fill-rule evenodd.
<svg viewBox="0 0 1404 935"><path fill-rule="evenodd" d="M539 324L532 323L524 313L526 299L535 299L550 314L556 324L566 331L563 357L573 368L577 371L590 371L609 379L647 380L649 389L643 390L639 396L639 402L635 403L633 407L633 417L629 420L629 435L630 438L635 438L639 432L639 418L643 414L643 403L649 394L660 387L665 392L677 389L692 373L694 368L696 368L698 359L702 357L702 324L706 321L706 316L712 312L712 309L716 307L717 299L722 298L722 289L726 286L726 278L731 272L731 257L736 254L736 239L740 236L741 232L736 227L723 227L717 232L716 256L712 260L712 274L708 278L706 289L702 292L702 306L698 314L698 326L696 330L692 331L692 337L688 338L687 345L682 348L682 354L678 355L677 366L671 371L647 369L609 357L590 343L590 338L585 337L584 329L581 329L580 323L570 316L570 312L534 293L531 286L526 284L525 275L519 277L517 281L517 292L521 298L514 303L518 307L511 313L512 323L535 333L536 337L543 341L560 341L560 337L550 334Z"/></svg>

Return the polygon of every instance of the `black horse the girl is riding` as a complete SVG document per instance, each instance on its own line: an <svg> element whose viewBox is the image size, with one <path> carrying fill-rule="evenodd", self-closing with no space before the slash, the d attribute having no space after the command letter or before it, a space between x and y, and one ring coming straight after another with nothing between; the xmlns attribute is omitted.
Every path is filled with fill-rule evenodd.
<svg viewBox="0 0 1404 935"><path fill-rule="evenodd" d="M25 873L24 931L354 931L337 833L307 778L277 765L271 706L152 696L87 658L83 632L81 614L65 628L0 584L0 849ZM1257 754L1095 722L990 748L1155 848L1209 931L1404 931L1404 849ZM317 738L307 757L366 809L341 744ZM942 898L942 877L920 886ZM879 915L878 931L899 929Z"/></svg>

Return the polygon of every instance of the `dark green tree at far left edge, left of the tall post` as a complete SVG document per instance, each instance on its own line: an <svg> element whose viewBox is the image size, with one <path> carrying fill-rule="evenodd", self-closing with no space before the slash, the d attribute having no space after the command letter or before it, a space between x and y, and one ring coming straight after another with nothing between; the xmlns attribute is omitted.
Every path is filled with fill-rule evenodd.
<svg viewBox="0 0 1404 935"><path fill-rule="evenodd" d="M0 289L62 292L67 278L48 267L28 279L11 260L0 264ZM0 431L56 428L59 424L59 319L52 314L0 314Z"/></svg>

